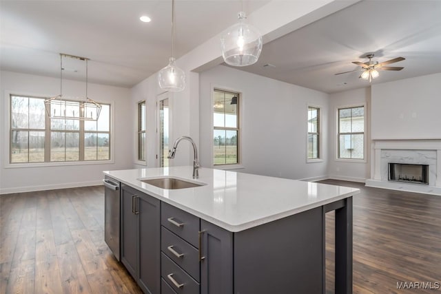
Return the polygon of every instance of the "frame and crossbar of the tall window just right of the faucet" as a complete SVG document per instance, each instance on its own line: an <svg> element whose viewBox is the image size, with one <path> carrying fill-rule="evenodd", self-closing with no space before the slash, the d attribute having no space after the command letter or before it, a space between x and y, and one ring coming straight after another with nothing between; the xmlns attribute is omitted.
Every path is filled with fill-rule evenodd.
<svg viewBox="0 0 441 294"><path fill-rule="evenodd" d="M229 94L236 94L238 95L238 101L237 101L237 126L236 127L215 127L214 126L214 118L213 118L213 114L214 114L214 92L226 92ZM214 85L211 87L211 104L210 104L210 119L211 119L211 138L210 138L210 156L211 156L211 165L212 168L216 168L216 169L243 169L243 165L242 165L242 142L241 142L241 133L242 133L242 125L243 125L243 120L242 120L242 109L243 109L243 93L238 91L238 90L234 90L228 87L223 87L223 86L217 86ZM236 131L237 132L237 162L236 163L227 163L227 164L221 164L221 165L215 165L214 164L214 142L213 142L213 138L214 138L214 131L216 129L220 129L220 130L232 130L232 131Z"/></svg>

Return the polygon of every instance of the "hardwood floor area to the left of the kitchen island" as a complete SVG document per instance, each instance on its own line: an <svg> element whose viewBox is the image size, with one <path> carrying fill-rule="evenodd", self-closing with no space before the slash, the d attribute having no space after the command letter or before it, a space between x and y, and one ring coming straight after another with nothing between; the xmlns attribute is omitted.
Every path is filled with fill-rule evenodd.
<svg viewBox="0 0 441 294"><path fill-rule="evenodd" d="M104 242L104 188L0 196L0 293L142 293Z"/></svg>

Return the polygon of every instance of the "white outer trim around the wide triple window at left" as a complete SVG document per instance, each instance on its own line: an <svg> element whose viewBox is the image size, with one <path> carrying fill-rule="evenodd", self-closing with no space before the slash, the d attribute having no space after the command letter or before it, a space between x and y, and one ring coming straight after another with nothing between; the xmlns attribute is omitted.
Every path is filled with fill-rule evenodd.
<svg viewBox="0 0 441 294"><path fill-rule="evenodd" d="M28 96L28 97L49 97L48 94L35 94L22 91L6 90L4 92L5 109L3 110L3 134L6 140L3 140L3 167L5 169L25 168L25 167L59 167L73 165L109 165L115 163L115 135L114 135L114 101L105 101L103 103L110 105L110 160L85 160L85 161L54 161L54 162L23 162L10 163L10 95Z"/></svg>

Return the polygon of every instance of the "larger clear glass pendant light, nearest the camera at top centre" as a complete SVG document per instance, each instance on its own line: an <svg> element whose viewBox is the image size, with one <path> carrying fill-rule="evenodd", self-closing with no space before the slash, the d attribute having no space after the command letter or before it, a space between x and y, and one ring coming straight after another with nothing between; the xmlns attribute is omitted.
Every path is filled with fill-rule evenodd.
<svg viewBox="0 0 441 294"><path fill-rule="evenodd" d="M256 28L245 23L245 12L240 0L238 23L229 27L220 36L220 49L225 63L233 66L246 66L256 63L262 51L262 36Z"/></svg>

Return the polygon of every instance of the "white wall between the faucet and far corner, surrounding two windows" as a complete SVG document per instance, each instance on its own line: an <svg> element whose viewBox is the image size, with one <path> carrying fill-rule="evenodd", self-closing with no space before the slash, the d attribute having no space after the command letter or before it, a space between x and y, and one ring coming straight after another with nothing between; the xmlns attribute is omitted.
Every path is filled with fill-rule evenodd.
<svg viewBox="0 0 441 294"><path fill-rule="evenodd" d="M240 144L242 165L251 174L283 178L327 175L327 125L323 124L324 161L307 163L307 105L322 109L327 121L328 95L288 83L218 65L200 74L200 154L203 167L212 166L212 89L242 94Z"/></svg>

